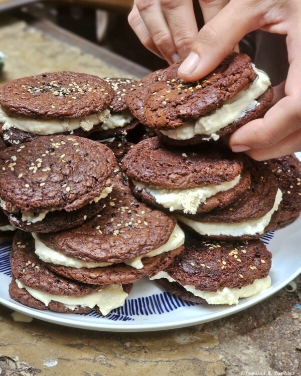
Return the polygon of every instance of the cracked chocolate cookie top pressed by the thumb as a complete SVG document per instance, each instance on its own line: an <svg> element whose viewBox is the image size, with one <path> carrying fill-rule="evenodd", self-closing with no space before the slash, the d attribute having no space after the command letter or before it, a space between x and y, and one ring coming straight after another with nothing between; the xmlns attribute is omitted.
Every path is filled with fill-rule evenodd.
<svg viewBox="0 0 301 376"><path fill-rule="evenodd" d="M134 116L149 127L174 129L209 114L256 78L244 54L230 54L209 76L193 83L179 78L179 65L150 73L126 97Z"/></svg>

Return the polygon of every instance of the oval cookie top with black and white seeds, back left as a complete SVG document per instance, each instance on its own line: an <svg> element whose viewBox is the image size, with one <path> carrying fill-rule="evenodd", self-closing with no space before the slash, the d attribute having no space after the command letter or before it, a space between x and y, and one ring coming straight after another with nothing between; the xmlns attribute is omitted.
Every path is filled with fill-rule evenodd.
<svg viewBox="0 0 301 376"><path fill-rule="evenodd" d="M74 72L42 73L0 86L0 104L6 111L40 119L77 118L101 112L114 95L103 79Z"/></svg>

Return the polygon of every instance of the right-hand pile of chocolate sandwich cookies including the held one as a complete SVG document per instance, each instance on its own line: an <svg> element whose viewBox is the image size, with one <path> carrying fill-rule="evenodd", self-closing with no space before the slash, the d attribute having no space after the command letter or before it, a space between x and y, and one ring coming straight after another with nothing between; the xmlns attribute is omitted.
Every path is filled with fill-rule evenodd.
<svg viewBox="0 0 301 376"><path fill-rule="evenodd" d="M172 212L185 231L184 253L151 279L183 299L237 304L271 284L271 254L258 238L298 216L300 197L283 205L281 189L301 195L299 162L289 157L293 167L285 170L282 162L256 162L220 142L262 116L272 100L269 78L249 57L233 53L193 83L178 77L178 67L149 74L128 94L131 112L158 137L129 150L122 167L133 194ZM291 192L275 169L290 171ZM282 219L280 208L289 212Z"/></svg>

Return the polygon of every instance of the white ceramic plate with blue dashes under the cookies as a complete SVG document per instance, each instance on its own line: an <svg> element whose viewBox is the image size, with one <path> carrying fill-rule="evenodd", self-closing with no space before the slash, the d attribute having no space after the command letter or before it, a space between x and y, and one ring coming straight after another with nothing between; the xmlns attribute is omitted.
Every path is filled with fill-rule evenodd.
<svg viewBox="0 0 301 376"><path fill-rule="evenodd" d="M12 300L8 289L11 282L10 243L0 247L0 303L41 320L78 328L105 331L150 331L179 328L231 315L254 305L280 290L301 273L301 216L296 222L262 238L272 252L270 276L272 285L260 294L241 299L238 305L196 304L165 292L147 278L134 284L125 305L107 316L60 314L28 308Z"/></svg>

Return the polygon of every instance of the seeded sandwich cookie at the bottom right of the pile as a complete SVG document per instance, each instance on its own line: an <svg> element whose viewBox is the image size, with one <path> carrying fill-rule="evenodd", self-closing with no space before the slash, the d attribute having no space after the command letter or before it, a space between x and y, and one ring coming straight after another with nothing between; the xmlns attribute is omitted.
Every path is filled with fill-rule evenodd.
<svg viewBox="0 0 301 376"><path fill-rule="evenodd" d="M185 251L150 278L194 302L237 304L270 286L271 253L260 240L223 242L186 238Z"/></svg>

